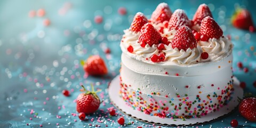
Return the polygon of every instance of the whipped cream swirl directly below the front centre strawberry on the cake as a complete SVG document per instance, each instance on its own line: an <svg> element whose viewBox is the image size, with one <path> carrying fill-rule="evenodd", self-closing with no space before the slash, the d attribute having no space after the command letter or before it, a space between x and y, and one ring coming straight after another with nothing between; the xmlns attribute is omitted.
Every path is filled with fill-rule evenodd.
<svg viewBox="0 0 256 128"><path fill-rule="evenodd" d="M181 49L179 50L177 47L172 48L171 44L169 46L165 46L165 58L167 61L173 61L180 64L193 64L199 61L201 53L203 50L200 46L197 45L194 49L188 48L186 51Z"/></svg>

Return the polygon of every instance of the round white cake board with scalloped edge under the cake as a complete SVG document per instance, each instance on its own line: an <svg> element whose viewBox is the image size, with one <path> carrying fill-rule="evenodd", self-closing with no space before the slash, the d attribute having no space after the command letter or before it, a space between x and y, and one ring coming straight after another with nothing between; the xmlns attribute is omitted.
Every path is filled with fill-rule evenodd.
<svg viewBox="0 0 256 128"><path fill-rule="evenodd" d="M147 115L141 111L134 110L132 107L126 106L126 102L122 99L122 97L119 95L120 90L120 81L119 81L119 75L116 76L111 83L109 84L108 92L109 92L109 98L113 105L117 107L119 110L121 110L124 114L131 116L134 119L137 119L138 121L150 123L150 124L156 124L156 125L163 125L163 126L189 126L189 125L199 125L204 123L209 123L212 121L215 121L217 119L220 119L221 116L225 116L229 114L232 110L236 108L238 105L237 97L243 98L243 89L239 87L239 81L236 77L233 77L234 79L234 94L232 95L233 99L228 103L227 106L223 106L218 111L215 111L214 113L209 113L205 116L202 116L202 118L189 118L186 119L186 121L183 121L182 119L174 119L171 118L160 118L158 116L150 116Z"/></svg>

